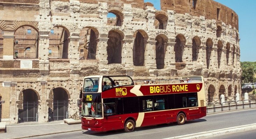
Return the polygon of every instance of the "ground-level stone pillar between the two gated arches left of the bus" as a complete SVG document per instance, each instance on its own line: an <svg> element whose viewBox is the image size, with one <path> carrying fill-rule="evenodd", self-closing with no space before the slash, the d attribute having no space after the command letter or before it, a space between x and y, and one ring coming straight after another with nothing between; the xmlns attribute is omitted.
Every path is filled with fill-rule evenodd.
<svg viewBox="0 0 256 139"><path fill-rule="evenodd" d="M38 105L40 103L41 109L38 109L38 122L47 122L48 121L48 105L47 105L47 81L40 81L41 83L41 96L38 100Z"/></svg>

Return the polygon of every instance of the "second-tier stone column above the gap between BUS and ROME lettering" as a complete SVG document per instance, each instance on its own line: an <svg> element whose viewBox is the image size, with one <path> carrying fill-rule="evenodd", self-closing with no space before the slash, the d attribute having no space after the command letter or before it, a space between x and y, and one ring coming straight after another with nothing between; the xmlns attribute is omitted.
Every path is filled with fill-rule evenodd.
<svg viewBox="0 0 256 139"><path fill-rule="evenodd" d="M175 67L175 51L174 51L175 44L176 42L167 42L165 58L164 58L165 68L166 66L174 69L176 68Z"/></svg>

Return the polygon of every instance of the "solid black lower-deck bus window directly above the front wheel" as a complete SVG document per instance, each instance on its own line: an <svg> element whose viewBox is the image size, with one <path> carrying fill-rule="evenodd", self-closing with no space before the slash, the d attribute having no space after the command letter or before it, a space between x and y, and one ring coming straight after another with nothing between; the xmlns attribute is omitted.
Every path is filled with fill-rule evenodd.
<svg viewBox="0 0 256 139"><path fill-rule="evenodd" d="M124 97L123 98L123 112L126 113L138 113L139 112L138 97Z"/></svg>

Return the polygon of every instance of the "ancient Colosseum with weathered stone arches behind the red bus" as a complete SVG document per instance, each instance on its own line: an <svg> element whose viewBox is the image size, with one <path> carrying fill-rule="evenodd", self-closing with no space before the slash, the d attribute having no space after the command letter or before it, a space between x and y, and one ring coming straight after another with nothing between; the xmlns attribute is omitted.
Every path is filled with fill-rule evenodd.
<svg viewBox="0 0 256 139"><path fill-rule="evenodd" d="M63 120L79 111L88 75L201 75L209 102L241 93L235 11L213 0L160 2L0 0L0 120Z"/></svg>

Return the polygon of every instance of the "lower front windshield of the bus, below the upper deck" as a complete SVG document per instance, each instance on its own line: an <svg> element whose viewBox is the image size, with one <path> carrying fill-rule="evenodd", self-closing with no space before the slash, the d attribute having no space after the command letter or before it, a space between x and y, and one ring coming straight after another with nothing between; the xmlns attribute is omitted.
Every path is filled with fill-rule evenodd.
<svg viewBox="0 0 256 139"><path fill-rule="evenodd" d="M100 93L84 94L82 116L102 117Z"/></svg>

